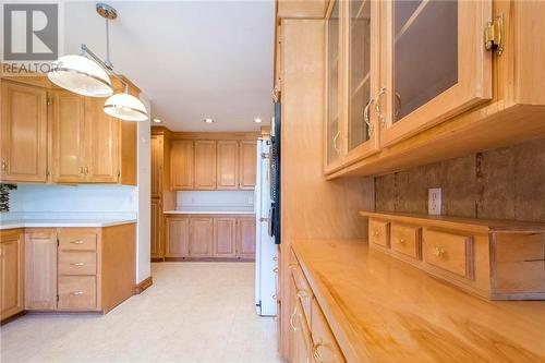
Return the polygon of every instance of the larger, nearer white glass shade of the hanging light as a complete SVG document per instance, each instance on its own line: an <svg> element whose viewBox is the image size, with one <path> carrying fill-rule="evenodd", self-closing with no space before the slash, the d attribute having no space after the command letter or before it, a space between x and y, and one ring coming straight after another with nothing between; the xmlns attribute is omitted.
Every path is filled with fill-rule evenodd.
<svg viewBox="0 0 545 363"><path fill-rule="evenodd" d="M59 87L82 96L108 97L113 95L108 73L97 62L83 56L59 58L47 76Z"/></svg>

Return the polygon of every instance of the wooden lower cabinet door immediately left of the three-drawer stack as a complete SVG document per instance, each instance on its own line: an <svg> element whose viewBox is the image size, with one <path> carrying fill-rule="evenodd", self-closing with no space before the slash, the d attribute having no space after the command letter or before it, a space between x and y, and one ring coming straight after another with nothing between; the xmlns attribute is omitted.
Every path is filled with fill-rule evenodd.
<svg viewBox="0 0 545 363"><path fill-rule="evenodd" d="M31 231L25 244L25 308L57 308L57 233Z"/></svg>

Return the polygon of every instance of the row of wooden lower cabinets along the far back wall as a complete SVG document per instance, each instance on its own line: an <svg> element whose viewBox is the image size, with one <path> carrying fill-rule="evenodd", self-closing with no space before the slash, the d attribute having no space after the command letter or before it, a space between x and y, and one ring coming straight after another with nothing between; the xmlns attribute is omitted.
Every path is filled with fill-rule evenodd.
<svg viewBox="0 0 545 363"><path fill-rule="evenodd" d="M167 258L255 259L255 219L238 215L166 215Z"/></svg>

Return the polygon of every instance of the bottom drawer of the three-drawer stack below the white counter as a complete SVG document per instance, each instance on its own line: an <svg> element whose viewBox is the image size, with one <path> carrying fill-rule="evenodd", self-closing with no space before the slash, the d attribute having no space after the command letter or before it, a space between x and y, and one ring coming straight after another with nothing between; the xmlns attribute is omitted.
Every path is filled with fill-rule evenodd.
<svg viewBox="0 0 545 363"><path fill-rule="evenodd" d="M59 310L96 310L97 281L95 276L61 276L59 278Z"/></svg>

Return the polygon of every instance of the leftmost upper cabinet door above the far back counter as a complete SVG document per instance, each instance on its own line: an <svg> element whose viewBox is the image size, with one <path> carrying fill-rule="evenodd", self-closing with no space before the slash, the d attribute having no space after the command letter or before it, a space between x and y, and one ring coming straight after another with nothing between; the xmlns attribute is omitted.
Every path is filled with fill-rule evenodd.
<svg viewBox="0 0 545 363"><path fill-rule="evenodd" d="M208 156L208 153L204 153L204 155ZM192 141L172 141L170 146L170 172L173 190L192 190L194 187L195 150Z"/></svg>

